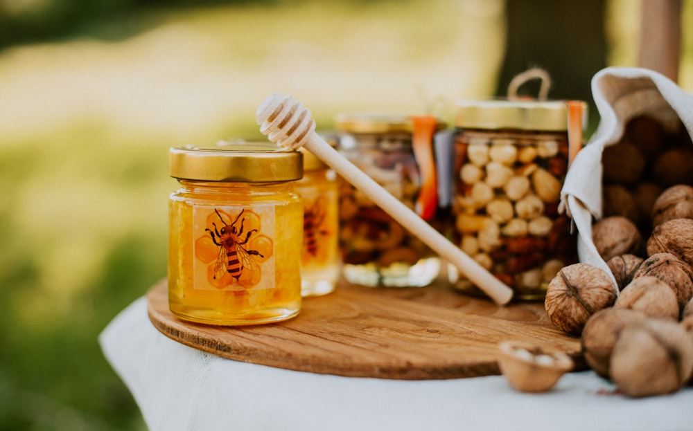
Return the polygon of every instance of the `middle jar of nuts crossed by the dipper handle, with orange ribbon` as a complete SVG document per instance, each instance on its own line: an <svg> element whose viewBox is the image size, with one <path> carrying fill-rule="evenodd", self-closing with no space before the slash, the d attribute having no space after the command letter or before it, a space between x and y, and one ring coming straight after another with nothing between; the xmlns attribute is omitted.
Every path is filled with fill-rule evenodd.
<svg viewBox="0 0 693 431"><path fill-rule="evenodd" d="M337 149L440 228L432 140L444 123L432 119L416 151L413 124L408 116L337 116ZM424 196L428 197L422 201ZM441 269L439 257L428 246L347 181L340 183L340 250L344 278L364 286L426 286Z"/></svg>

